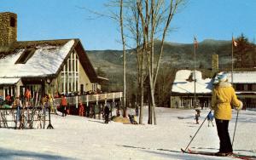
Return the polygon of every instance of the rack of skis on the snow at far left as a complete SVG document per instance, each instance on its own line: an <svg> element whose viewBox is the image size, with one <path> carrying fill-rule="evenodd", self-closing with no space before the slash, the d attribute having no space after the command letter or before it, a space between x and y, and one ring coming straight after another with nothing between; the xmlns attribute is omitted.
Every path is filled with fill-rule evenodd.
<svg viewBox="0 0 256 160"><path fill-rule="evenodd" d="M0 108L0 128L45 129L46 123L47 129L53 129L48 106Z"/></svg>

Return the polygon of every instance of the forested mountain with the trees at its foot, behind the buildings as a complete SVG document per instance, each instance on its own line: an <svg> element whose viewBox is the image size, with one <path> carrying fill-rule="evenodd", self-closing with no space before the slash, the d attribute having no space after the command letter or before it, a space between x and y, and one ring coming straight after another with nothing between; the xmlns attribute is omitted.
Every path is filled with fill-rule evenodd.
<svg viewBox="0 0 256 160"><path fill-rule="evenodd" d="M160 41L154 43L154 53L160 52ZM244 66L253 68L256 63L255 45L250 51L246 51L243 55ZM212 54L218 54L219 68L231 68L231 41L219 41L207 39L199 43L196 49L196 68L211 69ZM123 71L123 52L121 50L87 50L90 61L96 68L96 71L105 73L103 76L109 78L110 90L119 90L122 86ZM240 53L234 48L235 66L241 66L239 63ZM183 43L165 43L164 53L161 63L168 66L168 70L177 70L180 68L194 69L194 44ZM162 65L163 66L163 65ZM128 83L134 84L137 73L137 57L134 49L126 51L126 71ZM169 74L175 74L170 71ZM172 78L174 75L172 75Z"/></svg>

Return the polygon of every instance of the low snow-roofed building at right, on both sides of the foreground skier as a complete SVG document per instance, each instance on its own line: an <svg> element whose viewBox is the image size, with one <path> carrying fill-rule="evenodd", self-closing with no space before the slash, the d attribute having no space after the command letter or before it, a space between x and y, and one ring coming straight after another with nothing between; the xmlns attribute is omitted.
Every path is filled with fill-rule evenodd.
<svg viewBox="0 0 256 160"><path fill-rule="evenodd" d="M193 76L194 72L196 78ZM236 95L244 104L243 108L255 108L256 71L233 71L233 82L231 71L226 73L228 74L228 81L233 83ZM201 71L177 71L172 84L171 106L176 108L210 106L214 83L218 83L215 77L203 79ZM194 99L196 104L194 104Z"/></svg>

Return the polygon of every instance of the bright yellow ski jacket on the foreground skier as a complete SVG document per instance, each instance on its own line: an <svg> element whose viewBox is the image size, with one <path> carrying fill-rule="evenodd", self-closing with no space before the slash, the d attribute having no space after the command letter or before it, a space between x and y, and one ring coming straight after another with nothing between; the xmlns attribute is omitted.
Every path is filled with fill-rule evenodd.
<svg viewBox="0 0 256 160"><path fill-rule="evenodd" d="M232 118L232 108L241 110L242 102L237 99L235 89L228 82L219 82L212 89L212 110L214 117L222 120L230 120Z"/></svg>

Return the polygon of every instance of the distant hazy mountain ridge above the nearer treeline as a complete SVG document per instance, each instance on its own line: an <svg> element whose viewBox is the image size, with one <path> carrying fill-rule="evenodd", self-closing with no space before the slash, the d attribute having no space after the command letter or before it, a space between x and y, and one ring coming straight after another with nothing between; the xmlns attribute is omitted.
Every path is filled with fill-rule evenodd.
<svg viewBox="0 0 256 160"><path fill-rule="evenodd" d="M212 54L218 54L219 67L231 68L231 50L231 41L206 39L198 44L195 53L195 66L210 69ZM136 54L131 54L132 51L134 49L126 51L126 70L131 74L137 71L137 57ZM122 50L87 50L86 52L93 66L100 67L107 75L122 74ZM159 40L154 42L154 53L160 53ZM194 68L194 44L166 42L161 63L167 63L174 68ZM255 55L251 53L245 56L245 63L255 63Z"/></svg>

